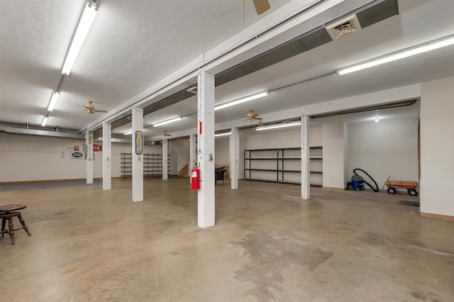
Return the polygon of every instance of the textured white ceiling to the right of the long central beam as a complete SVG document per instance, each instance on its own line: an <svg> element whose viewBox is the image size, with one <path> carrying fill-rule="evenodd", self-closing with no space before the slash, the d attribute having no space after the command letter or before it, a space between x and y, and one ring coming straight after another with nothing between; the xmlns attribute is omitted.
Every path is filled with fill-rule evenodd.
<svg viewBox="0 0 454 302"><path fill-rule="evenodd" d="M345 76L336 74L336 69L340 67L454 33L454 20L450 18L454 11L454 1L445 1L444 6L442 2L438 2L440 6L436 11L433 11L432 4L427 1L399 1L399 4L399 16L216 87L217 103L258 91L272 91L266 98L216 111L216 123L238 120L245 117L251 108L260 114L272 113L454 76L454 45L358 73ZM432 25L431 30L427 29L427 24ZM326 76L317 78L323 74ZM298 82L302 83L279 89ZM192 102L195 112L195 98L184 102ZM161 112L170 113L172 107L162 109ZM419 115L417 108L385 112L386 118ZM371 113L359 113L322 121L361 121L370 115ZM196 116L191 116L184 126L188 124L194 127ZM167 125L166 128L167 131L184 129L179 125ZM149 136L158 134L150 130Z"/></svg>

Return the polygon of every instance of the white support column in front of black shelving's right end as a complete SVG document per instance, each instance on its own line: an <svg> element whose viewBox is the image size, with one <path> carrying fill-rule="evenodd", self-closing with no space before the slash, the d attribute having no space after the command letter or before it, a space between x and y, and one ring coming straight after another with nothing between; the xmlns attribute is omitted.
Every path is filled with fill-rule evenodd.
<svg viewBox="0 0 454 302"><path fill-rule="evenodd" d="M301 116L301 198L303 199L311 198L309 150L309 118L306 116L306 107L304 107Z"/></svg>

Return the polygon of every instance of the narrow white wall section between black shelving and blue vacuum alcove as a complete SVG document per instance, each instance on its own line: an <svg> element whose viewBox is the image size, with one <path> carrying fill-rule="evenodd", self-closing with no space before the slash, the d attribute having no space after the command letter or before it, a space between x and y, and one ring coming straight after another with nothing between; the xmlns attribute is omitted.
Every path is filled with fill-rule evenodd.
<svg viewBox="0 0 454 302"><path fill-rule="evenodd" d="M323 186L345 188L343 124L323 125Z"/></svg>

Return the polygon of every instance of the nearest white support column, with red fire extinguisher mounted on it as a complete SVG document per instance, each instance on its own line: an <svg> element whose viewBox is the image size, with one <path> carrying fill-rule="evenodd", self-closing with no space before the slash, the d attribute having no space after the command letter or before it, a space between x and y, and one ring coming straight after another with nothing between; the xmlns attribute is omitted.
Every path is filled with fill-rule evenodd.
<svg viewBox="0 0 454 302"><path fill-rule="evenodd" d="M198 225L208 228L215 223L214 212L214 75L200 69L198 76L198 160L200 190L197 195Z"/></svg>

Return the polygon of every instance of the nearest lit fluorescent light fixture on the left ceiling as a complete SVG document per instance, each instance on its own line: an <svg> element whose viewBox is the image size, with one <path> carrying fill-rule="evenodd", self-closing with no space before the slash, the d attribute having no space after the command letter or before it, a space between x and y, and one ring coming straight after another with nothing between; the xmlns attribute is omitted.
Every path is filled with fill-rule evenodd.
<svg viewBox="0 0 454 302"><path fill-rule="evenodd" d="M98 11L94 1L87 1L79 23L77 24L74 38L72 38L65 63L63 63L62 74L70 74L72 65L74 65L77 55L79 55L79 51L82 48L82 45L84 45L85 38L87 38L88 32L92 27L96 13L98 13Z"/></svg>

